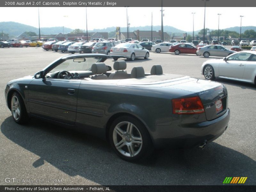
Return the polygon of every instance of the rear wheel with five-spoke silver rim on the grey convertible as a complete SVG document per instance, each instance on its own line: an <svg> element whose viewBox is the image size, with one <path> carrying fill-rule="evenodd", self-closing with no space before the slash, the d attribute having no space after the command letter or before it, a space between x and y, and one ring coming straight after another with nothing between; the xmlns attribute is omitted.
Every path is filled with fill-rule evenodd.
<svg viewBox="0 0 256 192"><path fill-rule="evenodd" d="M130 162L141 161L154 150L145 125L131 116L118 117L112 123L109 141L116 154Z"/></svg>

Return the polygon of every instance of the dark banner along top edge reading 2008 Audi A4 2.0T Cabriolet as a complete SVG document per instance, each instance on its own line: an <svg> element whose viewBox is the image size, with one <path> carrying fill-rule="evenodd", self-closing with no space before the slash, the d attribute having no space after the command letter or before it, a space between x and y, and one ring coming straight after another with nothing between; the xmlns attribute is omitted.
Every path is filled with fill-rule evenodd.
<svg viewBox="0 0 256 192"><path fill-rule="evenodd" d="M163 0L163 7L256 7L253 0ZM161 0L1 0L0 7L161 7Z"/></svg>

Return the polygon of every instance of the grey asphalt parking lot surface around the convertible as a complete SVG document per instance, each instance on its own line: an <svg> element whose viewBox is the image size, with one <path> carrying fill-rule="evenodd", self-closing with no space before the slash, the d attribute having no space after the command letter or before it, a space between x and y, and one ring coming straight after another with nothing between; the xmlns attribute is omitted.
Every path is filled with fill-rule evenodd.
<svg viewBox="0 0 256 192"><path fill-rule="evenodd" d="M252 84L216 79L227 86L231 117L224 134L204 150L157 150L143 163L121 160L107 142L90 135L37 119L16 124L5 103L7 82L33 75L66 54L41 47L0 49L0 185L222 185L225 177L248 177L244 185L256 185L256 86ZM128 72L134 66L150 72L160 64L164 73L204 79L200 68L208 59L221 58L150 52L148 60L126 61ZM114 60L105 63L113 68Z"/></svg>

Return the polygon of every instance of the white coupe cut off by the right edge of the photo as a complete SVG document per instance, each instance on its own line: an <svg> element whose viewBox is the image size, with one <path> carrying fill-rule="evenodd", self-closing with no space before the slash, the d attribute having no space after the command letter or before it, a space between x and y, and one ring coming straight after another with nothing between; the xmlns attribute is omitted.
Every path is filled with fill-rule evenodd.
<svg viewBox="0 0 256 192"><path fill-rule="evenodd" d="M201 74L207 80L226 78L256 84L256 52L236 52L223 59L207 60Z"/></svg>

